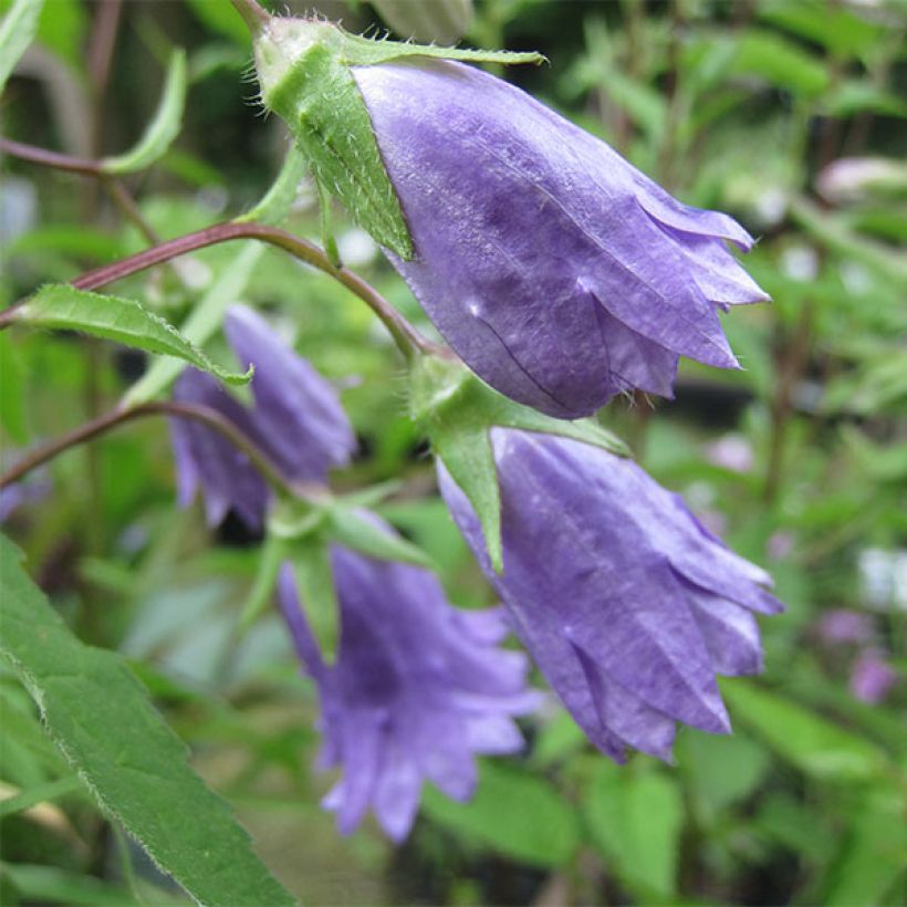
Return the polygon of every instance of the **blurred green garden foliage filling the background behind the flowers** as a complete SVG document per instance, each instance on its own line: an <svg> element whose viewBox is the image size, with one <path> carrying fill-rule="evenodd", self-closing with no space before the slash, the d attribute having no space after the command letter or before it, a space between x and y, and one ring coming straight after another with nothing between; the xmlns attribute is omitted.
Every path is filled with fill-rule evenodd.
<svg viewBox="0 0 907 907"><path fill-rule="evenodd" d="M685 363L675 400L637 396L601 418L774 575L789 609L763 622L765 675L723 684L733 737L684 729L671 767L642 755L613 765L552 701L524 722L523 758L486 761L468 805L427 791L394 849L369 823L338 837L320 811L331 779L312 770L313 689L277 619L238 630L260 540L231 518L210 533L198 508L175 508L161 421L32 477L30 500L4 514L32 575L82 639L125 654L196 769L305 901L904 903L907 3L289 6L353 31L384 28L377 7L403 37L539 50L550 65L500 74L682 200L761 237L747 265L774 303L724 319L744 371ZM49 0L3 95L3 135L83 157L121 152L150 118L174 46L188 52L183 131L126 184L161 238L241 212L286 137L260 116L246 29L226 0ZM147 244L92 180L11 157L0 167L3 305ZM316 240L314 201L303 187L288 226ZM372 240L337 217L343 260L430 331ZM343 389L361 455L337 489L402 479L382 512L436 559L455 602L488 604L379 325L326 277L246 249L207 249L122 290L179 323L226 280L218 292L267 312ZM231 364L222 341L208 350ZM0 356L7 461L110 409L146 367L65 333L4 332ZM2 901L179 900L65 783L12 675L0 675L0 796L17 804L0 819Z"/></svg>

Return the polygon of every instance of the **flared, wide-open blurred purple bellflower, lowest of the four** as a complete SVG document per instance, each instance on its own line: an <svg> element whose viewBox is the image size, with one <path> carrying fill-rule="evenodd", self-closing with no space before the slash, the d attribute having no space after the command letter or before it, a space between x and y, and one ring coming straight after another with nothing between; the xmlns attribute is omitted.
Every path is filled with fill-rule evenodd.
<svg viewBox="0 0 907 907"><path fill-rule="evenodd" d="M292 569L280 603L296 651L321 696L322 768L343 776L323 805L344 834L371 807L395 841L409 832L424 780L467 800L477 753L522 748L512 716L539 705L527 659L497 644L498 609L461 612L425 570L334 548L341 608L336 661L326 665L300 609Z"/></svg>

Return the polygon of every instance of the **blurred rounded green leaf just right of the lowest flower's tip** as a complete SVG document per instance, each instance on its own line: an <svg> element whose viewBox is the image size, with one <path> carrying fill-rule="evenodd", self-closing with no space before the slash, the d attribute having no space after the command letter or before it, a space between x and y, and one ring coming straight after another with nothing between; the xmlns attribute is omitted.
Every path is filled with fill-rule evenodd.
<svg viewBox="0 0 907 907"><path fill-rule="evenodd" d="M550 782L494 762L480 763L468 803L428 788L423 811L467 841L536 866L564 866L580 843L576 814Z"/></svg>

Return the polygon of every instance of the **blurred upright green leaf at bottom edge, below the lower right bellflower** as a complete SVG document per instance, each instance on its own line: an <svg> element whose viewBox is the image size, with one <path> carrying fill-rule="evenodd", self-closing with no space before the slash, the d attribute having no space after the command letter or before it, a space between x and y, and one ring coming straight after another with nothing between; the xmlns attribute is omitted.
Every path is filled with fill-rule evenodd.
<svg viewBox="0 0 907 907"><path fill-rule="evenodd" d="M684 826L677 783L660 772L596 764L584 797L593 842L643 901L673 901Z"/></svg>

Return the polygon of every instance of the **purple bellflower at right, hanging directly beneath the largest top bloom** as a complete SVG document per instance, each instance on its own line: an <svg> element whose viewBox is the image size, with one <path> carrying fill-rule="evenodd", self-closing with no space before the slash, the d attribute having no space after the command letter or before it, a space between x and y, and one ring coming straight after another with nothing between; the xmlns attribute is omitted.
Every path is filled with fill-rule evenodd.
<svg viewBox="0 0 907 907"><path fill-rule="evenodd" d="M753 612L771 580L636 463L551 435L492 428L503 573L466 496L441 492L518 636L590 740L670 759L675 722L730 730L715 675L755 674Z"/></svg>

